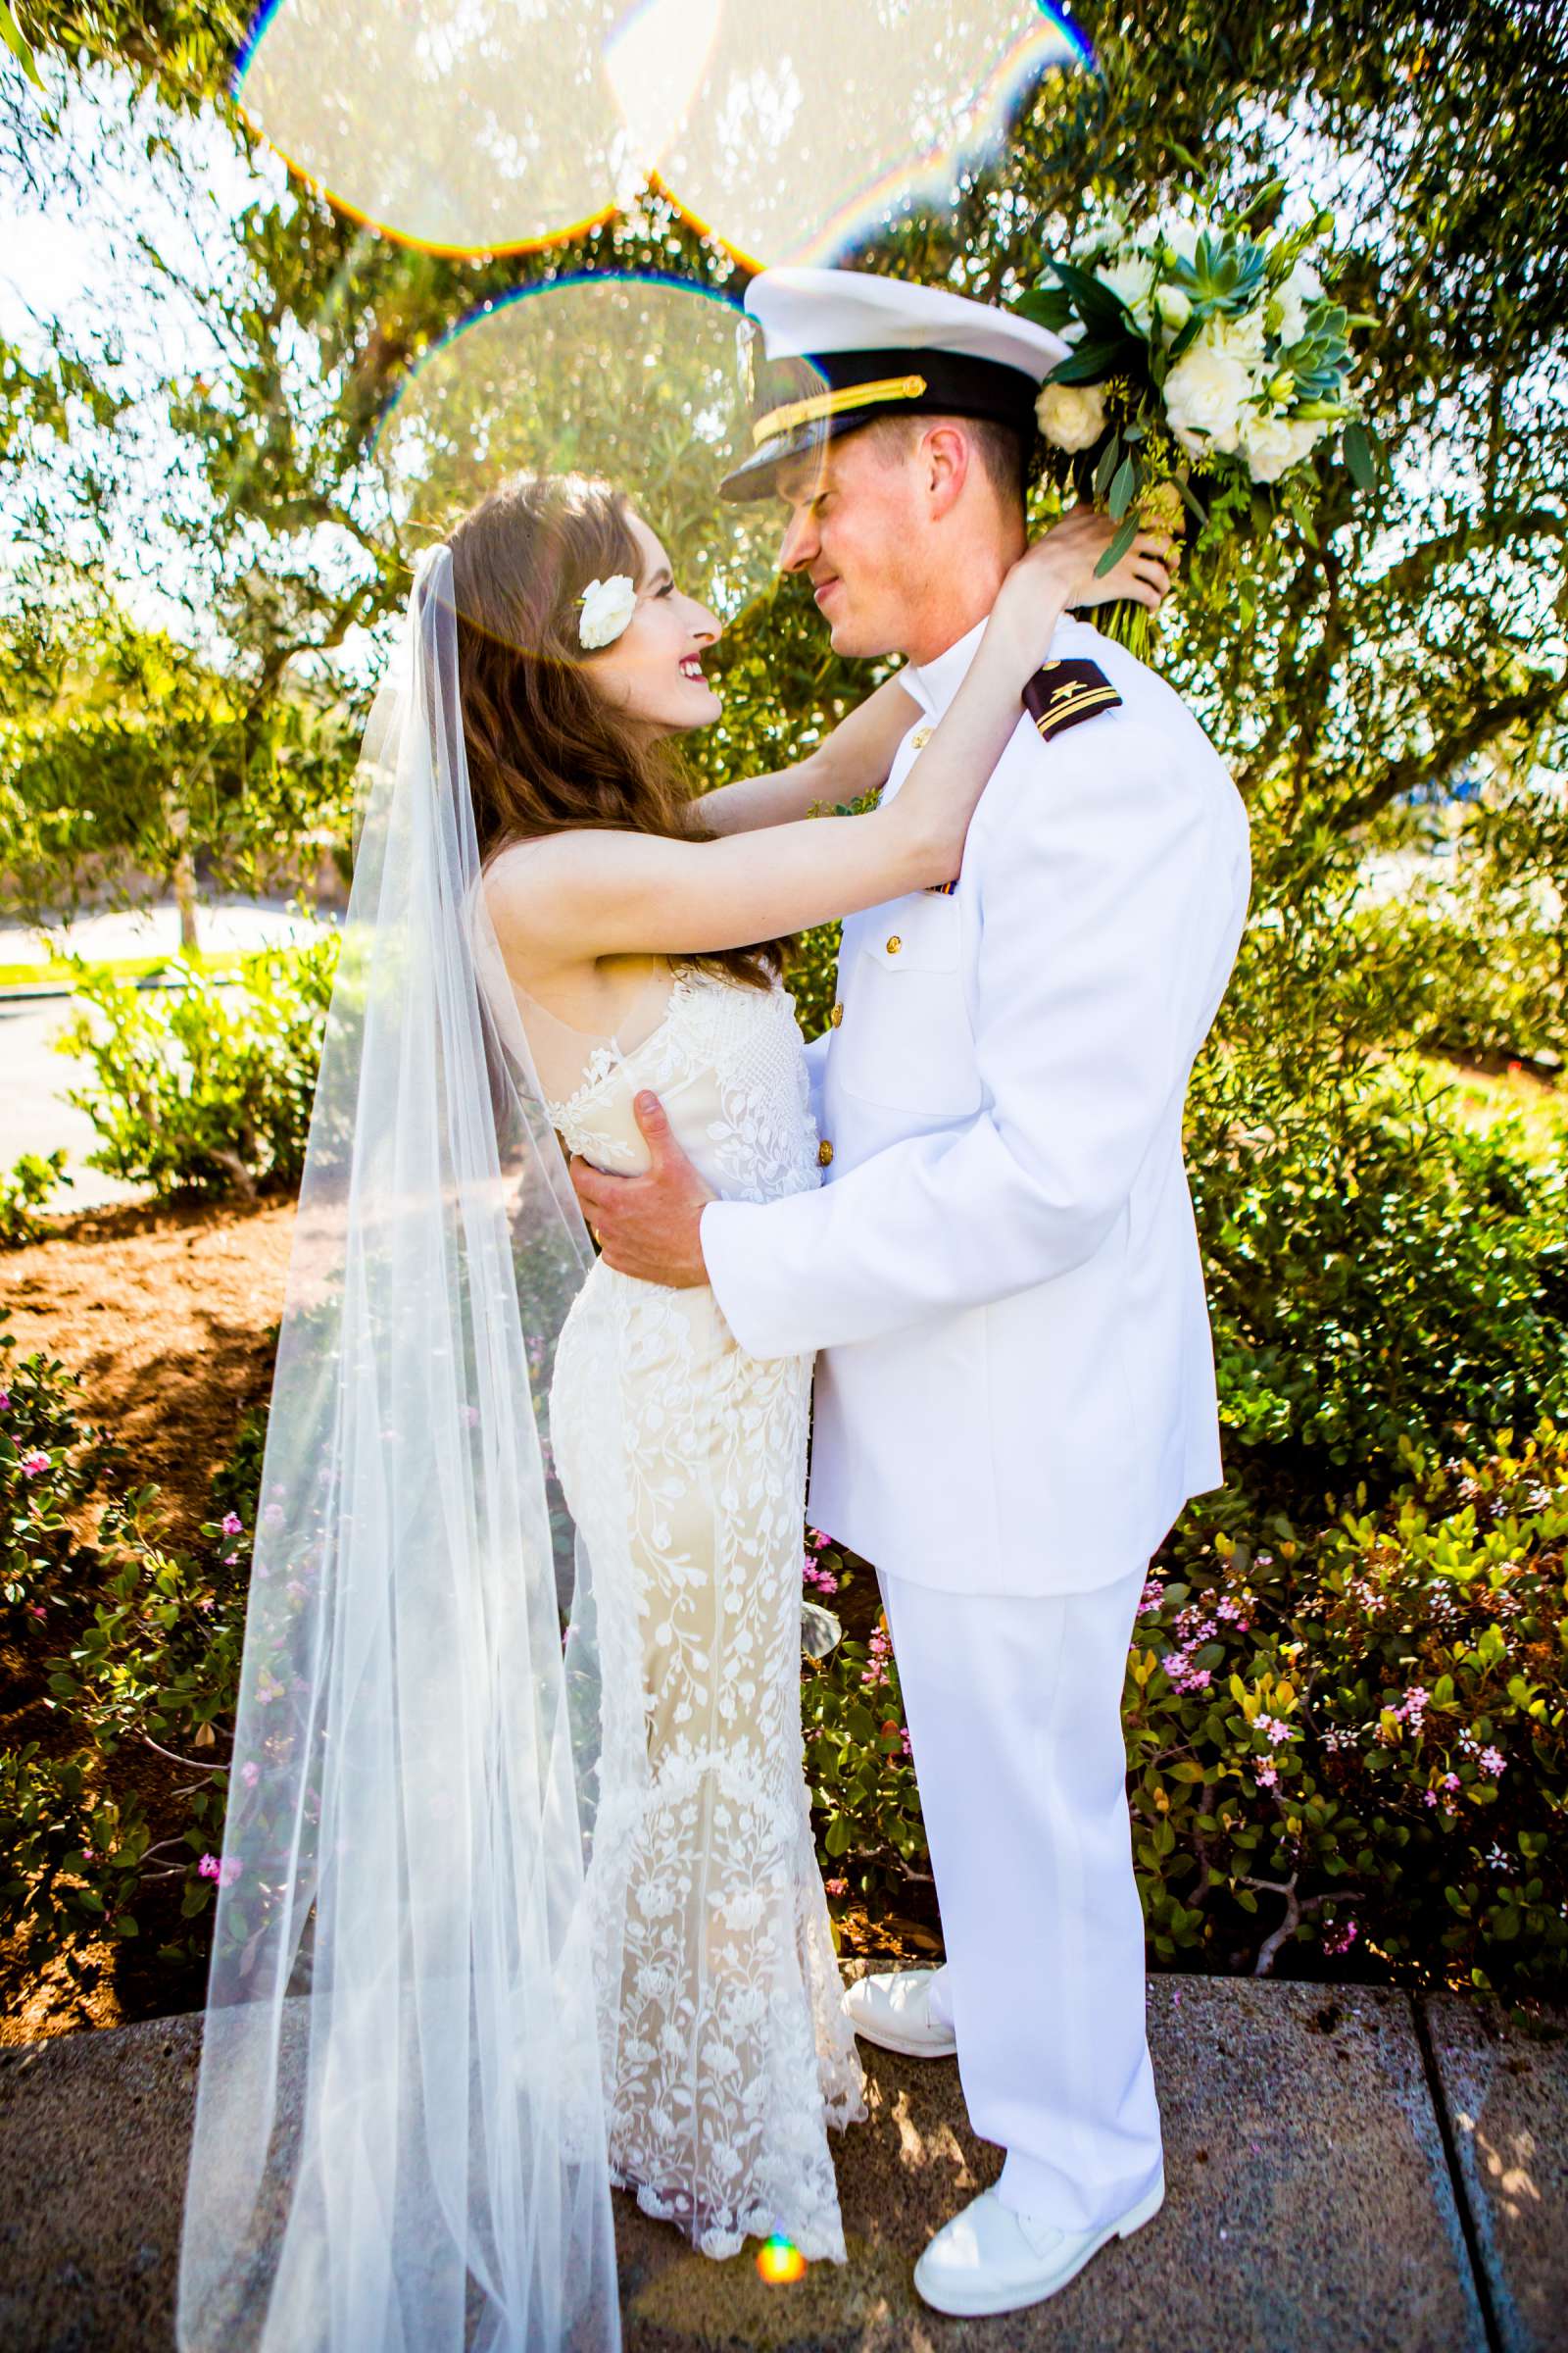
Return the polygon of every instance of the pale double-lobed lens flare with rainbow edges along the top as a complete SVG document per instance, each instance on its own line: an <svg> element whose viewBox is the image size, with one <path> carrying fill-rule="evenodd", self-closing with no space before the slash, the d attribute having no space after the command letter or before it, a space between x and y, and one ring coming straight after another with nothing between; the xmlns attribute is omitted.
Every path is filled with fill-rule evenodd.
<svg viewBox="0 0 1568 2353"><path fill-rule="evenodd" d="M233 89L409 245L555 245L656 184L759 266L950 205L1051 66L1091 49L1037 0L273 0Z"/></svg>

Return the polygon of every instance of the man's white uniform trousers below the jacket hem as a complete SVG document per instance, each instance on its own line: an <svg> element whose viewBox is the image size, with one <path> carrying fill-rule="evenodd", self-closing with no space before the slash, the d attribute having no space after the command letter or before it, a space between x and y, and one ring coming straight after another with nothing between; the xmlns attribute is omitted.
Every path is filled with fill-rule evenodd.
<svg viewBox="0 0 1568 2353"><path fill-rule="evenodd" d="M997 2195L1065 2231L1161 2172L1121 1689L1145 1569L1088 1593L877 1572L943 1911L931 1986Z"/></svg>

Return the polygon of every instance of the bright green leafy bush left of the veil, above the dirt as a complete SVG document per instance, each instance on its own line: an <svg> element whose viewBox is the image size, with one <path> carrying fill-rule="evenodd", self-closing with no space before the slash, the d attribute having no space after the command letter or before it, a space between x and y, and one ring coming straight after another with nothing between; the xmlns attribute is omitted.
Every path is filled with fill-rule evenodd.
<svg viewBox="0 0 1568 2353"><path fill-rule="evenodd" d="M82 965L87 1009L59 1047L92 1066L66 1089L101 1139L89 1167L158 1193L299 1184L336 960L336 934L263 948L233 988L186 960L186 986L158 993Z"/></svg>

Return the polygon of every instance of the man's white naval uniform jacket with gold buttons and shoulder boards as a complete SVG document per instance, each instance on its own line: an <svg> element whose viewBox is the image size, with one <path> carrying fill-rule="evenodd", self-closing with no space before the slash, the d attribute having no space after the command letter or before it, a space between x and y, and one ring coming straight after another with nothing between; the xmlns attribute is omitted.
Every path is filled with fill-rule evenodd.
<svg viewBox="0 0 1568 2353"><path fill-rule="evenodd" d="M926 725L983 631L900 673ZM957 889L844 920L842 1016L806 1049L823 1184L701 1214L738 1346L820 1351L811 1525L961 1593L1124 1577L1222 1480L1182 1101L1246 922L1246 809L1133 654L1086 621L1051 654L1121 706L1048 741L1020 718Z"/></svg>

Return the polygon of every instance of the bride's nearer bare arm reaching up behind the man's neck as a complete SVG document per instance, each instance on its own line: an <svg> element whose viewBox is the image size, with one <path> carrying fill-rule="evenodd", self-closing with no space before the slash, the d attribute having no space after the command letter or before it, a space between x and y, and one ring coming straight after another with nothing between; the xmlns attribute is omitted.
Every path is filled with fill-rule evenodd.
<svg viewBox="0 0 1568 2353"><path fill-rule="evenodd" d="M1056 621L1084 593L1114 525L1088 515L1037 539L1001 584L952 706L886 807L813 816L715 842L574 826L494 859L487 901L501 948L585 962L745 948L947 882L976 802L1020 720ZM1147 534L1140 534L1147 539ZM1164 574L1161 574L1164 576ZM1140 581L1140 602L1161 588Z"/></svg>

